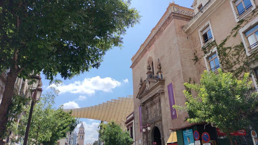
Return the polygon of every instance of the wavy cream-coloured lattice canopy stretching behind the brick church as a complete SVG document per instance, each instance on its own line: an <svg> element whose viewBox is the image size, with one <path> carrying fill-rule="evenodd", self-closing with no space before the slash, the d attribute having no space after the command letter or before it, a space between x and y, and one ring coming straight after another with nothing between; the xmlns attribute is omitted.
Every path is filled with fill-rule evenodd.
<svg viewBox="0 0 258 145"><path fill-rule="evenodd" d="M117 124L125 129L126 117L133 112L133 96L118 97L90 107L64 109L65 112L70 110L72 110L72 116L76 118L88 118L106 122L115 120Z"/></svg>

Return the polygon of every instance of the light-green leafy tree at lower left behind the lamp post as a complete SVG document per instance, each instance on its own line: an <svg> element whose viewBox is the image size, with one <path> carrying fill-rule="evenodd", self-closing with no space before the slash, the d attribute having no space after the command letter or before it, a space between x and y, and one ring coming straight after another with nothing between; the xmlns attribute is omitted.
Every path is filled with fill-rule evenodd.
<svg viewBox="0 0 258 145"><path fill-rule="evenodd" d="M54 99L59 91L52 88L51 92L43 94L38 104L33 110L28 144L48 144L56 145L59 139L65 138L67 132L72 132L79 123L79 120L71 116L71 112L64 112L62 106L57 110L53 107ZM14 133L20 136L18 140L23 139L26 125L28 122L29 105L25 110L25 115L21 119L21 123Z"/></svg>

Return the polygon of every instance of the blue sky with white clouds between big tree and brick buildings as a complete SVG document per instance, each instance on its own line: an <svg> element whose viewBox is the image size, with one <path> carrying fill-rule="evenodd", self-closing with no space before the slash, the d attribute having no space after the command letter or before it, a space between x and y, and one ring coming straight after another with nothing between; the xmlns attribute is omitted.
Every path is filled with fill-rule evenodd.
<svg viewBox="0 0 258 145"><path fill-rule="evenodd" d="M140 11L140 24L127 30L123 36L123 48L108 51L99 69L91 69L71 80L63 80L59 87L61 93L56 98L56 106L65 104L69 107L88 107L117 97L133 95L131 58L138 51L150 31L162 17L170 0L132 0L131 6ZM175 4L190 8L193 0L175 0ZM49 81L42 79L43 93ZM105 84L106 85L101 85ZM98 138L96 131L98 120L80 119L84 122L84 143L92 143ZM78 132L78 131L77 131Z"/></svg>

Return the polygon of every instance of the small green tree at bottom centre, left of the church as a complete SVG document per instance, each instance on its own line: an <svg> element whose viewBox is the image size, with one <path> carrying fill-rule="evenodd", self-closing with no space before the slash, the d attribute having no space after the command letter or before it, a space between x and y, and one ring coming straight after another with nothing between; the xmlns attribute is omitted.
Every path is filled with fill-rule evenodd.
<svg viewBox="0 0 258 145"><path fill-rule="evenodd" d="M101 141L105 145L130 145L133 144L133 139L129 132L123 132L121 127L115 121L101 123L99 125L99 133Z"/></svg>

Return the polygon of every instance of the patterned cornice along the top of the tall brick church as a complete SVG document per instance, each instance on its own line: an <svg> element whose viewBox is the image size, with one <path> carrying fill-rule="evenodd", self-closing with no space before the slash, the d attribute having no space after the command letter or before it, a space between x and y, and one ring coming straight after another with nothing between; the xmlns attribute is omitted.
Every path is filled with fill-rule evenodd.
<svg viewBox="0 0 258 145"><path fill-rule="evenodd" d="M163 28L164 29L164 24L167 24L168 22L170 22L172 19L172 15L176 15L181 17L181 18L186 18L186 19L191 19L193 16L195 16L193 9L191 8L186 8L186 7L182 7L179 6L177 4L169 4L167 11L164 13L164 15L162 16L162 18L159 20L159 22L157 23L157 25L151 30L150 35L147 37L147 39L144 41L144 43L140 46L140 49L136 52L136 54L133 56L132 60L132 66L130 66L130 68L132 68L134 65L135 60L137 60L140 56L140 54L142 54L145 50L146 52L146 47L149 44L150 41L152 41L152 38L157 35L157 33L159 33L160 29ZM169 19L169 20L167 20Z"/></svg>

